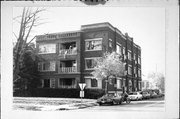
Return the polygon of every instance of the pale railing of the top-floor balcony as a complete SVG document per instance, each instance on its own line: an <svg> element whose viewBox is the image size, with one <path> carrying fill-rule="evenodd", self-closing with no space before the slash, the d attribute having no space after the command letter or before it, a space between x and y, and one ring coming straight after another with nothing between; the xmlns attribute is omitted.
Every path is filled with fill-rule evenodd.
<svg viewBox="0 0 180 119"><path fill-rule="evenodd" d="M73 48L73 49L62 49L59 50L59 55L75 55L77 54L77 48Z"/></svg>

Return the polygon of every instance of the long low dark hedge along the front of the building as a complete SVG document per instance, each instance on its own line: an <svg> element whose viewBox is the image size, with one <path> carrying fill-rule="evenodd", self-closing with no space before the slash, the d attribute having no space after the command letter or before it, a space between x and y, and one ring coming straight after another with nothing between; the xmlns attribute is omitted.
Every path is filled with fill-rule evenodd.
<svg viewBox="0 0 180 119"><path fill-rule="evenodd" d="M16 90L13 96L19 97L61 97L61 98L79 98L80 89L50 89L39 88L31 91ZM97 99L104 95L102 89L85 89L84 98Z"/></svg>

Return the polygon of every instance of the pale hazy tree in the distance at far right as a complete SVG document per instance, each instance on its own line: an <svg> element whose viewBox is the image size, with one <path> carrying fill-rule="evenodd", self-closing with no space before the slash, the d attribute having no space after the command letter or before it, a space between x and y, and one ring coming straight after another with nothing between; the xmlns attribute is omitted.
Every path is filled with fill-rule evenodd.
<svg viewBox="0 0 180 119"><path fill-rule="evenodd" d="M165 91L165 77L162 73L152 72L148 75L148 78L153 79L153 84L162 92Z"/></svg>

